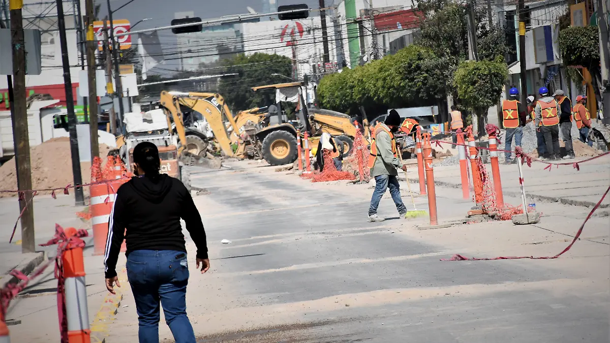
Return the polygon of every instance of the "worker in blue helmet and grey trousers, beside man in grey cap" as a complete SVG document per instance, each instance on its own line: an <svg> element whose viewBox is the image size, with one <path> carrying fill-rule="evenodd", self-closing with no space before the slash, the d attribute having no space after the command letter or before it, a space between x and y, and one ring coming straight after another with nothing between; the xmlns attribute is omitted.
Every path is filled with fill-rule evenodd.
<svg viewBox="0 0 610 343"><path fill-rule="evenodd" d="M534 117L534 125L536 130L544 135L544 142L547 145L547 151L544 157L545 161L559 159L559 104L552 96L549 96L547 87L540 87L538 90L540 99L536 102L536 115Z"/></svg>

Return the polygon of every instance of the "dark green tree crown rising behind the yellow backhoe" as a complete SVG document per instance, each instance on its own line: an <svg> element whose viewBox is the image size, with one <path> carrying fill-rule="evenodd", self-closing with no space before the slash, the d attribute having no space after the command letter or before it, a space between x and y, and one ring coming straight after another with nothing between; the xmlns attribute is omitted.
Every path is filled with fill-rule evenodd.
<svg viewBox="0 0 610 343"><path fill-rule="evenodd" d="M289 82L284 76L292 74L292 60L288 57L262 52L249 56L238 54L223 60L223 66L228 72L238 74L221 79L218 85L218 92L234 112L269 106L275 98L273 90L253 92L251 87Z"/></svg>

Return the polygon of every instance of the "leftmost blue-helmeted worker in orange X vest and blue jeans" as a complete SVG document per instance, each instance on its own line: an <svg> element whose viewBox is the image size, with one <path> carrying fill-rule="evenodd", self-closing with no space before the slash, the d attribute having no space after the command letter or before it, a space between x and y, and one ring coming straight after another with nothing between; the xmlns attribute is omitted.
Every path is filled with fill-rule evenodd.
<svg viewBox="0 0 610 343"><path fill-rule="evenodd" d="M515 137L515 146L521 146L521 140L523 139L523 126L527 121L528 112L518 99L519 90L512 87L509 90L508 99L502 102L502 116L504 118L502 125L506 129L504 150L506 151L511 151L512 137ZM510 152L504 153L504 159L506 164L514 162L511 159Z"/></svg>

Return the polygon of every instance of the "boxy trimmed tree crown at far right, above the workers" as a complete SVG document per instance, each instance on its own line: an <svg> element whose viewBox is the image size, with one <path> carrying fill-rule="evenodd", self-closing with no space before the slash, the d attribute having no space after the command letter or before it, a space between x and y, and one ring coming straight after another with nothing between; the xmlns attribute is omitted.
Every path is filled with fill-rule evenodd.
<svg viewBox="0 0 610 343"><path fill-rule="evenodd" d="M600 64L596 26L570 26L559 33L559 49L565 65L595 68Z"/></svg>

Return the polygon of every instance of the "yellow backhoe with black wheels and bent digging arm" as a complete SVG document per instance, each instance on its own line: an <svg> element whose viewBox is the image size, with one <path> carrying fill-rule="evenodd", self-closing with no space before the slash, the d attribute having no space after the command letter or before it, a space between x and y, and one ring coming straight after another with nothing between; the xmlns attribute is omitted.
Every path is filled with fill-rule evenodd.
<svg viewBox="0 0 610 343"><path fill-rule="evenodd" d="M181 107L186 107L206 118L213 132L213 143L224 156L263 158L270 165L290 164L297 157L298 132L309 134L312 147L317 146L323 132L328 132L343 142L342 151L346 156L356 136L356 127L350 117L330 110L307 109L301 86L300 82L291 82L253 87L254 92L275 89L276 103L239 112L235 117L223 96L214 93L163 91L160 104L174 123L174 131L181 143L179 154L184 150L190 156L213 157L208 152L213 150L209 149L212 138L197 128L184 126ZM282 99L297 103L298 121L287 120L282 110Z"/></svg>

